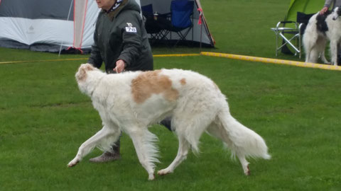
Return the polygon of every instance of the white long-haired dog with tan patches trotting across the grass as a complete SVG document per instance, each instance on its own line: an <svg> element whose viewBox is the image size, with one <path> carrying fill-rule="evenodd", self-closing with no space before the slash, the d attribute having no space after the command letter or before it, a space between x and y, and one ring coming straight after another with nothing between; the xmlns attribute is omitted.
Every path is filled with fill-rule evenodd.
<svg viewBox="0 0 341 191"><path fill-rule="evenodd" d="M158 162L157 137L148 131L148 126L165 117L172 117L179 148L171 165L159 170L158 175L172 173L190 148L198 152L199 139L205 131L227 144L246 175L250 173L247 156L270 158L259 134L232 117L218 86L194 71L161 69L105 74L91 64L82 64L75 77L80 91L92 99L104 127L80 146L69 167L95 146L108 148L123 131L131 137L148 180L153 180L154 163Z"/></svg>

